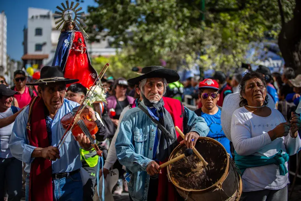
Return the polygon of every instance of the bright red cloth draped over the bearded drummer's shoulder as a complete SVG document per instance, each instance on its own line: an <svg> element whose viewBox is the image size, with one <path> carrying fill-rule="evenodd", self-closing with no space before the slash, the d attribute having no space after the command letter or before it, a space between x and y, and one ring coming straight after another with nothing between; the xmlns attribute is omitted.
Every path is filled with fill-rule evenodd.
<svg viewBox="0 0 301 201"><path fill-rule="evenodd" d="M174 122L175 126L178 126L179 129L183 132L183 115L184 115L184 107L179 100L163 97L164 101L164 108L169 112L171 115L172 121ZM178 132L177 138L178 143L180 143L183 139ZM168 158L159 165L167 162ZM178 201L182 200L182 197L178 194L175 186L172 182L168 182L167 178L167 168L161 169L162 174L159 174L159 181L158 181L158 195L156 201L166 201L166 200L173 200Z"/></svg>

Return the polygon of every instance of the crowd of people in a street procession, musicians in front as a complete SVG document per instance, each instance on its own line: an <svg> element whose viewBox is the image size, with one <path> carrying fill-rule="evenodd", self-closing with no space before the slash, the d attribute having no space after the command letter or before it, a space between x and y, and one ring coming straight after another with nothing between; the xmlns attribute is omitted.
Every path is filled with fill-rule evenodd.
<svg viewBox="0 0 301 201"><path fill-rule="evenodd" d="M200 136L219 141L235 160L241 200L287 200L287 161L301 147L300 117L293 113L301 75L289 67L282 75L271 73L265 66L230 76L216 71L206 79L190 75L183 83L177 72L162 66L144 67L140 74L129 80L105 75L104 110L87 106L98 128L93 139L102 143L100 170L99 156L84 134L78 141L67 136L57 148L65 131L61 119L87 95L78 79L64 78L60 66L44 66L38 80L17 70L11 87L0 76L0 200L97 200L98 171L106 178L112 169L119 173L112 194L129 192L134 201L183 200L159 165L175 146L190 148ZM226 131L223 103L235 94L240 108L228 117L231 130ZM195 111L183 106L185 95L195 99L186 103L195 102ZM284 102L291 105L285 114Z"/></svg>

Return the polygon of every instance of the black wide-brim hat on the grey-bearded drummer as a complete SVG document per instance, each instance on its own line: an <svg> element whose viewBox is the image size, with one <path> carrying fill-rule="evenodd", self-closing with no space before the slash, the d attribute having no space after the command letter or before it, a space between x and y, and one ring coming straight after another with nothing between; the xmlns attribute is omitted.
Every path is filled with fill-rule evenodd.
<svg viewBox="0 0 301 201"><path fill-rule="evenodd" d="M180 79L180 76L176 71L172 69L166 69L163 66L158 65L144 67L141 73L137 74L139 74L140 76L128 79L128 83L139 84L141 80L153 77L165 78L167 83L173 83Z"/></svg>

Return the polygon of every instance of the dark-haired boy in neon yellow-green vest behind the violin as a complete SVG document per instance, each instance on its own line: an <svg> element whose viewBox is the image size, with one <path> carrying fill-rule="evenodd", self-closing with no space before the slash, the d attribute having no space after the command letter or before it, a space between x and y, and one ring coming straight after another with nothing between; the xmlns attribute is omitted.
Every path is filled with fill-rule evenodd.
<svg viewBox="0 0 301 201"><path fill-rule="evenodd" d="M81 104L87 94L87 89L80 83L71 84L66 92L66 98L68 100L77 102ZM87 106L92 116L93 121L95 121L98 132L96 133L96 140L102 142L107 137L106 128L103 126L102 120L97 112L93 110L93 108ZM92 201L95 193L96 186L96 173L97 171L97 162L99 160L99 156L96 155L96 151L94 149L90 151L85 151L80 149L81 163L82 167L89 173L90 178L87 183L83 186L83 201Z"/></svg>

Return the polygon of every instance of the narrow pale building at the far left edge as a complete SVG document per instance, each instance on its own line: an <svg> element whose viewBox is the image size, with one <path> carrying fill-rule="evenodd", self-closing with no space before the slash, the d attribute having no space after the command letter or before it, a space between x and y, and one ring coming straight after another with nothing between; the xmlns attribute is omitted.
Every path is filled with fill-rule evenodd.
<svg viewBox="0 0 301 201"><path fill-rule="evenodd" d="M7 19L4 11L0 13L0 75L4 75L7 71Z"/></svg>

